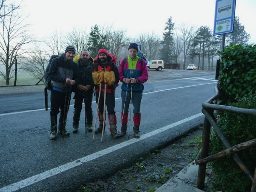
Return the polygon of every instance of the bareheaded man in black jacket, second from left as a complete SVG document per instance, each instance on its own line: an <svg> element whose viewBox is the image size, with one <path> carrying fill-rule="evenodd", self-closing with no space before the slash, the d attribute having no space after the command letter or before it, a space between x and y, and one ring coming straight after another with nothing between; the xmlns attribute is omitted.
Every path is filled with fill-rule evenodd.
<svg viewBox="0 0 256 192"><path fill-rule="evenodd" d="M82 50L80 59L76 62L79 68L79 81L75 89L75 105L73 116L73 133L78 132L82 102L85 104L85 132L92 132L92 94L94 81L92 79L92 58L88 50Z"/></svg>

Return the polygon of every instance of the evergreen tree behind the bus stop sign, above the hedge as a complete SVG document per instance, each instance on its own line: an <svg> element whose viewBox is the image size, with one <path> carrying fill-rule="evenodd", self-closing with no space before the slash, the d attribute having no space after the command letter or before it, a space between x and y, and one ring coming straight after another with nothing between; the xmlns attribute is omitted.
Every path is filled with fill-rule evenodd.
<svg viewBox="0 0 256 192"><path fill-rule="evenodd" d="M235 16L233 33L226 34L226 44L229 46L231 43L236 44L246 44L250 39L250 34L246 33L244 26L241 25L239 17Z"/></svg>

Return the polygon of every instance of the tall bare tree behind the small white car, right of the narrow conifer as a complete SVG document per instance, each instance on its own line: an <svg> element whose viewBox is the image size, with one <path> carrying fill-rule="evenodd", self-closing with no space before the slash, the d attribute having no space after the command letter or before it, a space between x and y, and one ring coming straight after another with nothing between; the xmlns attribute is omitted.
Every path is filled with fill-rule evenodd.
<svg viewBox="0 0 256 192"><path fill-rule="evenodd" d="M187 56L190 54L190 46L194 38L194 29L193 26L188 27L188 25L185 26L185 24L182 24L180 27L178 27L178 30L181 32L183 48L183 69L185 69Z"/></svg>

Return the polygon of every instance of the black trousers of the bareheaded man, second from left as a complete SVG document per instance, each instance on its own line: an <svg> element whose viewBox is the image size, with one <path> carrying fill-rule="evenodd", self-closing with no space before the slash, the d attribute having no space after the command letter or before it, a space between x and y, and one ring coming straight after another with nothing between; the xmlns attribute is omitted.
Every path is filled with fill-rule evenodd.
<svg viewBox="0 0 256 192"><path fill-rule="evenodd" d="M79 113L80 117L80 112L82 110L82 102L84 101L85 104L85 119L86 119L86 124L92 125L92 95L93 92L92 90L88 91L76 91L75 92L75 104L74 108L77 113Z"/></svg>

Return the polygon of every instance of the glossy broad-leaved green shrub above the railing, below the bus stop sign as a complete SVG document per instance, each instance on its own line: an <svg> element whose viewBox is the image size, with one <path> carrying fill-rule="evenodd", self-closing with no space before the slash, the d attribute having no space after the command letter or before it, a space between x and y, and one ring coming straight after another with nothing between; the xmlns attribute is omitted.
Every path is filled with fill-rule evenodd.
<svg viewBox="0 0 256 192"><path fill-rule="evenodd" d="M230 45L223 52L218 84L226 103L235 102L256 92L256 45Z"/></svg>

